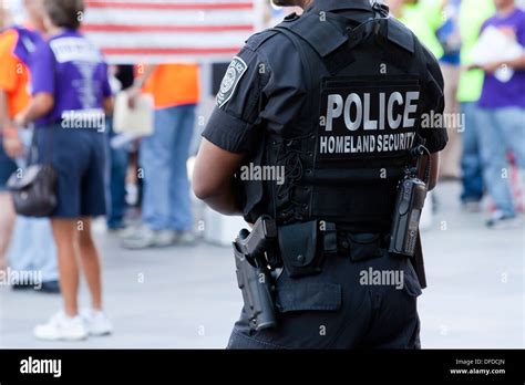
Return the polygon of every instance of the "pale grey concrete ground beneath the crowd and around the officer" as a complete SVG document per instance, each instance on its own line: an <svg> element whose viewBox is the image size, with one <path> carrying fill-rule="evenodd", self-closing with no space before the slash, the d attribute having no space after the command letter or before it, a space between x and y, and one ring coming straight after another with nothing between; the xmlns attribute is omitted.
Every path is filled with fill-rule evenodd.
<svg viewBox="0 0 525 385"><path fill-rule="evenodd" d="M429 281L419 304L423 346L524 347L525 228L486 229L486 215L461 211L456 184L442 184L435 196L439 211L423 232ZM241 304L229 249L199 243L131 252L109 235L97 242L114 335L35 341L33 326L60 308L60 298L0 287L0 347L225 346Z"/></svg>

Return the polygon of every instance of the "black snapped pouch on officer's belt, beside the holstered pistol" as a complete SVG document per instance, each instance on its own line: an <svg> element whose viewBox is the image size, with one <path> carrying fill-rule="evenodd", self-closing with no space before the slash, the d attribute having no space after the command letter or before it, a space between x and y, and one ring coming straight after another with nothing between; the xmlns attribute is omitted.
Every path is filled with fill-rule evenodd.
<svg viewBox="0 0 525 385"><path fill-rule="evenodd" d="M278 229L279 251L290 278L313 275L322 271L317 220L281 226Z"/></svg>

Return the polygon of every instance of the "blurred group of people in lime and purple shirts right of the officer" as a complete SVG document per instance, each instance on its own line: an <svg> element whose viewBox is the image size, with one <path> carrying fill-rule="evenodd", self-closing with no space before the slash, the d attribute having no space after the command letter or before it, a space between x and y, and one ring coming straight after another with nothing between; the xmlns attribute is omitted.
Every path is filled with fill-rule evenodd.
<svg viewBox="0 0 525 385"><path fill-rule="evenodd" d="M519 226L525 168L525 12L515 0L389 0L391 11L440 60L450 143L442 178L460 178L467 211L483 209L490 228ZM494 32L497 31L497 32ZM500 34L490 40L490 34ZM486 39L485 39L486 38ZM501 58L497 42L517 53ZM460 115L457 115L460 114ZM450 117L460 116L457 119ZM521 183L522 181L522 183Z"/></svg>

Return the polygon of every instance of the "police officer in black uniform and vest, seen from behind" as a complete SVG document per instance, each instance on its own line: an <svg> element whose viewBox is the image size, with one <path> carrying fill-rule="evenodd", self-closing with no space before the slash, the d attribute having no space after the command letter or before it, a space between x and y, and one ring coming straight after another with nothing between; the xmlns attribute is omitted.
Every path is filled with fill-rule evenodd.
<svg viewBox="0 0 525 385"><path fill-rule="evenodd" d="M422 125L444 108L437 62L384 6L275 2L305 12L234 58L194 174L213 209L278 228L277 325L244 309L228 347L419 348L421 250L388 249L411 149L431 154L432 189L447 142Z"/></svg>

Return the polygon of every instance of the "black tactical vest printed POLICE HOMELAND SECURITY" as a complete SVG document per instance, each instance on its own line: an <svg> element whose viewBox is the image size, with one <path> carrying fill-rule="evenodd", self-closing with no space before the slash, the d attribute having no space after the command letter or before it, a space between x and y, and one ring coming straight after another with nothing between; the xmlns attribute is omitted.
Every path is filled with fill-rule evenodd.
<svg viewBox="0 0 525 385"><path fill-rule="evenodd" d="M280 225L318 219L390 230L397 185L435 85L412 32L382 8L360 15L312 9L274 29L301 55L308 100L294 126L267 133L251 159L280 167L285 179L243 183L247 221L267 214Z"/></svg>

